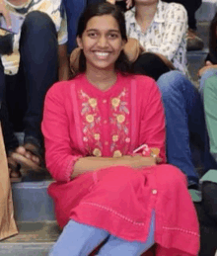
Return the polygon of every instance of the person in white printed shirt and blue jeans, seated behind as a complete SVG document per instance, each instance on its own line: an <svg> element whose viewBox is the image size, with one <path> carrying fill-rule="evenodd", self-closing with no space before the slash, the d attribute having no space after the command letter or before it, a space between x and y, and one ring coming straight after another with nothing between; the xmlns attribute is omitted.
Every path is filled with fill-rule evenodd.
<svg viewBox="0 0 217 256"><path fill-rule="evenodd" d="M134 3L125 13L127 37L138 40L144 50L133 64L134 72L157 81L167 121L168 162L187 176L189 189L197 190L198 173L191 156L190 137L204 154L205 121L199 93L187 79L186 11L181 4L161 0ZM168 62L177 70L170 71Z"/></svg>

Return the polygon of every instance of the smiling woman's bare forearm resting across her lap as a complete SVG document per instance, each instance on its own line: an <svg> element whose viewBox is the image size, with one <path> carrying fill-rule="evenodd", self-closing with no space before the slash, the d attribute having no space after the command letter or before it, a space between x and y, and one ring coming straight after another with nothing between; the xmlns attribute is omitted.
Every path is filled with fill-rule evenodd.
<svg viewBox="0 0 217 256"><path fill-rule="evenodd" d="M77 177L83 173L95 171L110 166L128 166L132 168L142 168L145 166L152 166L156 164L156 159L153 157L143 156L122 156L118 158L111 157L82 157L74 165L72 178Z"/></svg>

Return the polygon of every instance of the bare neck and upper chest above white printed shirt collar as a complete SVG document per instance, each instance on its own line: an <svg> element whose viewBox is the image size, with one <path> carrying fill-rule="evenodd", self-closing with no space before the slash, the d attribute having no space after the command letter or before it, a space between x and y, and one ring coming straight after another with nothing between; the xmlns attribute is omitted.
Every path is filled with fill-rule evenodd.
<svg viewBox="0 0 217 256"><path fill-rule="evenodd" d="M146 32L152 23L157 11L158 2L153 4L135 4L135 19L143 32Z"/></svg>

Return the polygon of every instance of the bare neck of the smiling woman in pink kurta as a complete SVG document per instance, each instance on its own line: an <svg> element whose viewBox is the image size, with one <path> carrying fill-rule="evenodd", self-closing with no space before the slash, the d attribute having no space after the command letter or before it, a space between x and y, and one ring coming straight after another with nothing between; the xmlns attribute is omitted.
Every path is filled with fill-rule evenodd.
<svg viewBox="0 0 217 256"><path fill-rule="evenodd" d="M87 67L86 76L90 83L102 91L108 90L116 81L116 73L113 69L93 70L93 68L90 69Z"/></svg>

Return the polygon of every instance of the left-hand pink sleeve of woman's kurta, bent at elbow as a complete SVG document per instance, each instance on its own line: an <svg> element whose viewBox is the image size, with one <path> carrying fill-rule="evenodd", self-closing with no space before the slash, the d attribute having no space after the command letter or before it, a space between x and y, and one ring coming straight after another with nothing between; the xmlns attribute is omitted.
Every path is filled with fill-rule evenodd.
<svg viewBox="0 0 217 256"><path fill-rule="evenodd" d="M54 180L59 182L70 181L73 166L82 157L70 138L64 83L67 82L54 84L47 92L41 124L46 167Z"/></svg>

